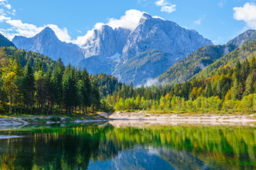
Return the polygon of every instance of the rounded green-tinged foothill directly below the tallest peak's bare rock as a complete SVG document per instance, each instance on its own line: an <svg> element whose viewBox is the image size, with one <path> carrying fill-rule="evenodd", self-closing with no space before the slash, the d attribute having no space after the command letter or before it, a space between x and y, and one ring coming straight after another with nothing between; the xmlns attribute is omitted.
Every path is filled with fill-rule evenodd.
<svg viewBox="0 0 256 170"><path fill-rule="evenodd" d="M167 68L173 65L172 55L160 50L146 50L139 55L128 59L115 75L121 82L132 81L135 85L145 84L149 78L156 78Z"/></svg>

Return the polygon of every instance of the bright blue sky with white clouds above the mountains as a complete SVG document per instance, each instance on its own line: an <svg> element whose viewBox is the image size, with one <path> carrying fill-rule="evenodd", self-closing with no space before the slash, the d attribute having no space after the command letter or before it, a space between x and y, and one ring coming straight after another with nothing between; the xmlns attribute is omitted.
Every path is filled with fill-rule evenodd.
<svg viewBox="0 0 256 170"><path fill-rule="evenodd" d="M132 30L142 12L146 12L195 29L215 44L224 44L247 29L256 29L255 3L255 0L0 0L0 33L11 40L14 35L32 37L50 26L60 40L81 46L90 30L102 24Z"/></svg>

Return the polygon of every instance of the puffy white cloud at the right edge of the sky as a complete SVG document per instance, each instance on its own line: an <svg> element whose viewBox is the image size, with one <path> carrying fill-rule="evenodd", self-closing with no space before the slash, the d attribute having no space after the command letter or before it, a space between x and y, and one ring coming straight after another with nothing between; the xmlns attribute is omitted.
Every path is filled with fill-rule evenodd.
<svg viewBox="0 0 256 170"><path fill-rule="evenodd" d="M256 4L251 2L245 3L243 7L233 8L234 19L240 21L243 20L246 22L247 26L253 29L256 29Z"/></svg>

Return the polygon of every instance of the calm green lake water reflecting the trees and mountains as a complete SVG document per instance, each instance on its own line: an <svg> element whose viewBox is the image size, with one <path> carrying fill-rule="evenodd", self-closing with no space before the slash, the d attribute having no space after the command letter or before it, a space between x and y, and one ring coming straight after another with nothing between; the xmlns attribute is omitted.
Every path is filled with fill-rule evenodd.
<svg viewBox="0 0 256 170"><path fill-rule="evenodd" d="M255 170L256 127L110 121L5 127L0 170Z"/></svg>

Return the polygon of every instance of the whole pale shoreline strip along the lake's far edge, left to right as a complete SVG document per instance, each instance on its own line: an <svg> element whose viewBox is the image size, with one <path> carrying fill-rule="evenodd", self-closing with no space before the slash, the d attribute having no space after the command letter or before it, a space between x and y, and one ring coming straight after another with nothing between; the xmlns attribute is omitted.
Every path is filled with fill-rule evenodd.
<svg viewBox="0 0 256 170"><path fill-rule="evenodd" d="M61 121L51 121L53 116L0 116L0 126L25 126L31 124L54 124L54 123L85 123L98 121L170 121L175 123L200 123L200 124L252 124L256 123L256 114L216 114L216 113L165 113L154 114L146 111L139 112L111 112L97 113L88 117L60 116ZM34 120L29 122L25 120ZM40 122L37 119L45 119Z"/></svg>

